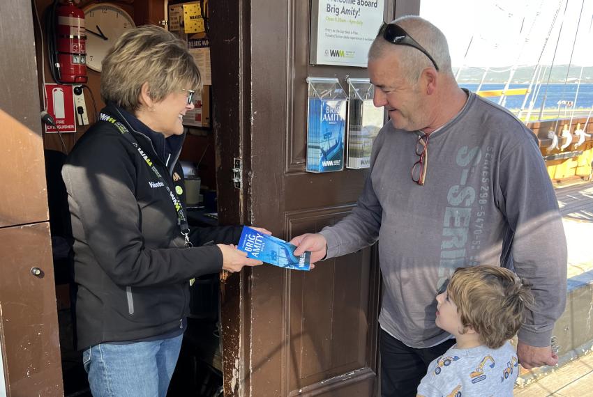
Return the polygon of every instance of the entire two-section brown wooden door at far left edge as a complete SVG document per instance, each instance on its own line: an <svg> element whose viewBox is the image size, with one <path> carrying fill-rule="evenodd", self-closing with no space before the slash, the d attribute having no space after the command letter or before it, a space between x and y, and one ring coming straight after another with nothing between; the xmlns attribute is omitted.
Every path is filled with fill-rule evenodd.
<svg viewBox="0 0 593 397"><path fill-rule="evenodd" d="M0 371L8 396L62 396L31 2L0 11Z"/></svg>

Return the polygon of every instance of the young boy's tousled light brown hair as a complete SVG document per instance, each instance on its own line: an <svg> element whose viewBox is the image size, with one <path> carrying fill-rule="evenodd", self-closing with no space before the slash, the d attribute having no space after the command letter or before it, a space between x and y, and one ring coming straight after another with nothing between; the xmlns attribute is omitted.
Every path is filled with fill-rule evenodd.
<svg viewBox="0 0 593 397"><path fill-rule="evenodd" d="M497 349L523 325L523 311L532 302L526 283L498 266L459 267L446 288L457 305L464 329L474 329L482 343Z"/></svg>

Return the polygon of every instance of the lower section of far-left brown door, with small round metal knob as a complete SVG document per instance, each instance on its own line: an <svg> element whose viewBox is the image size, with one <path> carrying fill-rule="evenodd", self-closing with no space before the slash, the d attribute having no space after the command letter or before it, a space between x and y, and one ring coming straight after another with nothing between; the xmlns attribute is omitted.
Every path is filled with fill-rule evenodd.
<svg viewBox="0 0 593 397"><path fill-rule="evenodd" d="M0 229L0 321L8 396L62 391L50 225ZM31 273L38 267L42 277Z"/></svg>

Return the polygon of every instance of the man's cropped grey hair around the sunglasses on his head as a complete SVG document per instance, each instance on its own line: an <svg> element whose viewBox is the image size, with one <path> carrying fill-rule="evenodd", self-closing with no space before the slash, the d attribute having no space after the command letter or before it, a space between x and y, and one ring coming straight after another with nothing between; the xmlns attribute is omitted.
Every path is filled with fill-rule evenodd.
<svg viewBox="0 0 593 397"><path fill-rule="evenodd" d="M435 59L435 62L439 66L440 73L453 75L449 45L447 45L444 34L437 26L416 15L398 17L391 23L403 28L419 45L426 49L428 54L433 56L433 59ZM375 38L373 44L370 46L368 60L379 59L386 52L393 51L394 47L399 47L398 51L402 54L399 61L403 77L412 84L418 81L424 68L433 66L428 56L418 49L407 45L394 45L382 36Z"/></svg>

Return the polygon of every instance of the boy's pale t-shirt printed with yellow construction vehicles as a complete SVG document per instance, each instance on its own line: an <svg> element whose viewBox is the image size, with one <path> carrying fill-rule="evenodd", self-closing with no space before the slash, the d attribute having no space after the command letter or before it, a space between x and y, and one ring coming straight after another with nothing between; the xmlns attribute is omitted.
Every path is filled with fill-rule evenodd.
<svg viewBox="0 0 593 397"><path fill-rule="evenodd" d="M518 373L517 355L508 341L498 349L486 345L458 349L453 345L430 363L418 394L423 397L513 396Z"/></svg>

